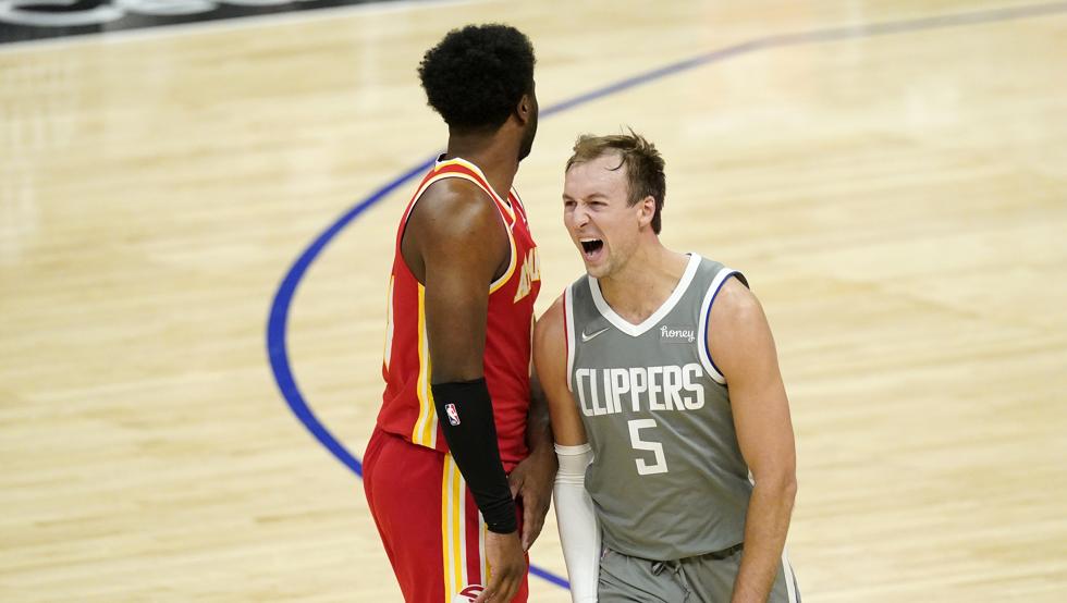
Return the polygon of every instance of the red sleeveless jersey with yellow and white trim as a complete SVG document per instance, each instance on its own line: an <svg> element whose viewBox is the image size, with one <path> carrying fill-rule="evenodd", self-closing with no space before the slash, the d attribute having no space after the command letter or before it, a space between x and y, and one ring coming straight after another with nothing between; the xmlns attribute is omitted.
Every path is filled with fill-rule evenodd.
<svg viewBox="0 0 1067 603"><path fill-rule="evenodd" d="M434 182L450 177L470 181L485 190L500 212L511 243L507 271L489 285L485 355L486 383L493 402L500 457L504 470L511 471L528 454L526 414L529 408L534 302L541 288L541 269L526 209L515 189L507 195L507 200L501 199L481 170L464 159L437 162L408 202L396 232L382 365L385 391L378 424L414 444L441 452L449 450L438 424L430 390L432 367L427 345L425 290L404 261L401 239L419 197Z"/></svg>

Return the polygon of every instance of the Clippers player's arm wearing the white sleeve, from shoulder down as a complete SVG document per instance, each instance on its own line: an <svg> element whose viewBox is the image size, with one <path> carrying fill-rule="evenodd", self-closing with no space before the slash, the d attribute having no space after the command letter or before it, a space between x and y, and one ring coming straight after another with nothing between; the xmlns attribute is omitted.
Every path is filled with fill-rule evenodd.
<svg viewBox="0 0 1067 603"><path fill-rule="evenodd" d="M534 362L549 402L552 433L560 459L555 479L555 514L563 557L571 577L571 596L578 603L597 601L600 575L600 527L585 488L592 460L578 407L567 389L567 344L563 299L557 299L534 331Z"/></svg>

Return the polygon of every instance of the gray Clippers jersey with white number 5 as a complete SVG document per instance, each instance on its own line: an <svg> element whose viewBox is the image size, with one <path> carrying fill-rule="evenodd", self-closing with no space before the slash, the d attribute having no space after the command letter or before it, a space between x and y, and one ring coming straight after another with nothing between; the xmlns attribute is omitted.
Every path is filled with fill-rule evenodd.
<svg viewBox="0 0 1067 603"><path fill-rule="evenodd" d="M596 279L566 290L567 385L592 445L586 489L610 549L669 561L744 540L752 487L707 345L711 305L731 275L745 282L690 255L638 325L611 309Z"/></svg>

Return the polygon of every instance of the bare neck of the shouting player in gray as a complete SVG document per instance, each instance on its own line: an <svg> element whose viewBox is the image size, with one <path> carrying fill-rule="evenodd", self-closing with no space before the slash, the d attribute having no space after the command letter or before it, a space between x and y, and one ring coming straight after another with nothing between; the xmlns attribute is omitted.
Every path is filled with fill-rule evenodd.
<svg viewBox="0 0 1067 603"><path fill-rule="evenodd" d="M600 279L604 300L634 323L643 322L666 302L689 263L689 256L667 249L651 236L615 274Z"/></svg>

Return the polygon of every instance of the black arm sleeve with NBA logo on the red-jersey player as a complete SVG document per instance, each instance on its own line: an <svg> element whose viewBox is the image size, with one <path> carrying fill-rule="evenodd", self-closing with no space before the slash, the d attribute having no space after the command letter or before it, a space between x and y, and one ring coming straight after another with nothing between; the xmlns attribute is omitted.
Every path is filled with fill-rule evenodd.
<svg viewBox="0 0 1067 603"><path fill-rule="evenodd" d="M438 422L486 525L496 533L518 529L515 501L500 462L493 405L486 380L431 385Z"/></svg>

